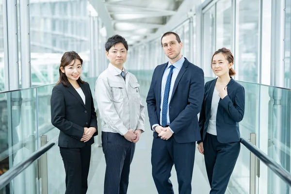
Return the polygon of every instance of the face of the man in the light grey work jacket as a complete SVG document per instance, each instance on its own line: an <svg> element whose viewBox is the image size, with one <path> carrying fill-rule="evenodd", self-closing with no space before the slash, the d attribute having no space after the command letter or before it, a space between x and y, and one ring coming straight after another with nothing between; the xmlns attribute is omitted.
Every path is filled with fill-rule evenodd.
<svg viewBox="0 0 291 194"><path fill-rule="evenodd" d="M126 62L127 50L122 43L117 43L113 47L106 51L107 59L114 66L121 66Z"/></svg>

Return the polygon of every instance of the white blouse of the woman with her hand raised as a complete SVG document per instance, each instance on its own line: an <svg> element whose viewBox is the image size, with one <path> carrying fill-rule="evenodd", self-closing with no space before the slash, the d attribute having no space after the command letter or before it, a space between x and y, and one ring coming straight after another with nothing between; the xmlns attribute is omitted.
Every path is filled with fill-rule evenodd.
<svg viewBox="0 0 291 194"><path fill-rule="evenodd" d="M219 94L219 92L214 87L212 101L211 101L209 125L207 128L207 132L212 134L212 135L217 135L217 132L216 132L216 114L217 114L218 103L220 100L220 97L218 96L218 94Z"/></svg>

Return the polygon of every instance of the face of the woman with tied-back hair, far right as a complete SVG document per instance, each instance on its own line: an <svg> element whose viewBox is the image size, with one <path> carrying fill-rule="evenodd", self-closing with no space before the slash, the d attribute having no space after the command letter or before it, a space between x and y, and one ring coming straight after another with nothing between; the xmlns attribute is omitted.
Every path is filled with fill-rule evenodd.
<svg viewBox="0 0 291 194"><path fill-rule="evenodd" d="M212 67L213 73L217 77L228 75L228 71L231 68L231 66L232 66L232 63L229 64L228 61L226 61L226 57L224 54L218 53L213 56L211 67Z"/></svg>

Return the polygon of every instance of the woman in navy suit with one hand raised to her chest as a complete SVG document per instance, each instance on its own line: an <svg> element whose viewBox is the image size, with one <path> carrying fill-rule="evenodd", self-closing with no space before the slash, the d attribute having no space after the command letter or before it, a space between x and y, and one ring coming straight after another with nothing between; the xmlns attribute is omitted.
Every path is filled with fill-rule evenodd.
<svg viewBox="0 0 291 194"><path fill-rule="evenodd" d="M211 68L216 79L205 84L199 117L202 141L198 150L204 154L210 194L224 194L240 153L239 122L244 114L244 88L234 81L233 55L218 49Z"/></svg>

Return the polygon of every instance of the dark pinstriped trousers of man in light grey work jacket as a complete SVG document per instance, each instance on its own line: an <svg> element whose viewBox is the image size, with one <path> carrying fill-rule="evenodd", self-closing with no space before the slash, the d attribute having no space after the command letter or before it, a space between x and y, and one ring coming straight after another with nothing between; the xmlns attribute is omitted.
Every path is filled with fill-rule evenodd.
<svg viewBox="0 0 291 194"><path fill-rule="evenodd" d="M119 133L102 131L102 148L106 162L104 194L126 194L135 143Z"/></svg>

